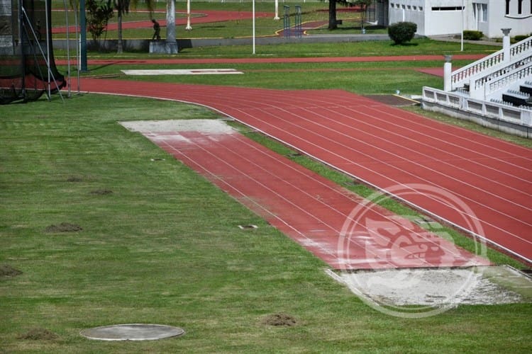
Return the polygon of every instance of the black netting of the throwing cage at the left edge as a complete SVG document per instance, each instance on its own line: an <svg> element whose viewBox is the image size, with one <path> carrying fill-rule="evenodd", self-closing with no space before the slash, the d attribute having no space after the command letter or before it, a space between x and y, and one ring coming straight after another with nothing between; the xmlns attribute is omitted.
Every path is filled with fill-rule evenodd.
<svg viewBox="0 0 532 354"><path fill-rule="evenodd" d="M0 104L32 101L67 85L53 59L50 3L0 0Z"/></svg>

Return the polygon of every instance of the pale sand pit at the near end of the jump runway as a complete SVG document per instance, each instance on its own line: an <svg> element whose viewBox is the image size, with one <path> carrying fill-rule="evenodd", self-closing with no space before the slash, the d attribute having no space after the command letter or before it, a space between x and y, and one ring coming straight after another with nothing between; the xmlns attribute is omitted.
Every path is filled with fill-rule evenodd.
<svg viewBox="0 0 532 354"><path fill-rule="evenodd" d="M428 316L462 304L532 302L532 278L506 265L326 273L395 316Z"/></svg>

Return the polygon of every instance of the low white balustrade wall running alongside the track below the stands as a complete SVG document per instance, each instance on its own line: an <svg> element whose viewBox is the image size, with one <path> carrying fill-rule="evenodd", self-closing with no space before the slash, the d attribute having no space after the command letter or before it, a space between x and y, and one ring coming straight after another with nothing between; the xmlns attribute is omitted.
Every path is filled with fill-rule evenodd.
<svg viewBox="0 0 532 354"><path fill-rule="evenodd" d="M532 110L527 107L513 107L504 103L475 100L460 93L447 92L423 87L423 102L474 113L484 118L495 118L513 123L516 126L532 127Z"/></svg>

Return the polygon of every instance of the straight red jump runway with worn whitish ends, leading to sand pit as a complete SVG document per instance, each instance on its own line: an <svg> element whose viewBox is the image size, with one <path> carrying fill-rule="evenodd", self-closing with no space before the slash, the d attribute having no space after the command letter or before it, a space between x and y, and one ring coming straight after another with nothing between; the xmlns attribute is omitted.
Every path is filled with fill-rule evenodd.
<svg viewBox="0 0 532 354"><path fill-rule="evenodd" d="M167 123L161 129L153 122L147 127L133 128L333 268L489 264L485 258L426 232L409 219L376 205L365 205L348 190L234 130L221 133L189 127L181 131L179 127L170 129ZM365 205L366 222L350 222L351 211L360 205Z"/></svg>

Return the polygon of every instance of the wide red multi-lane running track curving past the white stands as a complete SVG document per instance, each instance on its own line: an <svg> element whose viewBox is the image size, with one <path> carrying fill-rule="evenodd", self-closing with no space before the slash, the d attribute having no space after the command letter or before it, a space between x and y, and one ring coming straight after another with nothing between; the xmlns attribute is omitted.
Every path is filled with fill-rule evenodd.
<svg viewBox="0 0 532 354"><path fill-rule="evenodd" d="M340 90L99 79L84 79L82 88L206 105L532 260L531 149Z"/></svg>

